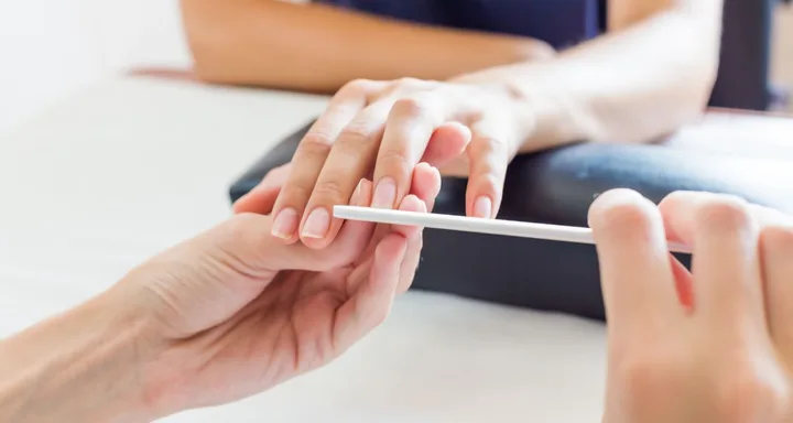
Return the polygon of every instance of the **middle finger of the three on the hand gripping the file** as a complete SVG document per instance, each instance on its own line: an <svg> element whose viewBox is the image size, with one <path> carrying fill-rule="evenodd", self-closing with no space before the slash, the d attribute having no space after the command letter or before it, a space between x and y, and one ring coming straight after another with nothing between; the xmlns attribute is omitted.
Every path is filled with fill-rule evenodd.
<svg viewBox="0 0 793 423"><path fill-rule="evenodd" d="M721 329L720 334L765 333L759 231L748 205L714 194L693 215L695 316L707 330Z"/></svg>

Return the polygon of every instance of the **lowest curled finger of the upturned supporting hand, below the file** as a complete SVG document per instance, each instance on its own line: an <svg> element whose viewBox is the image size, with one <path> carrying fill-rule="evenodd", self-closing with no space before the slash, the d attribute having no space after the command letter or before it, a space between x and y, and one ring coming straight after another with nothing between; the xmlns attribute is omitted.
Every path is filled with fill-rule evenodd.
<svg viewBox="0 0 793 423"><path fill-rule="evenodd" d="M334 339L337 350L346 350L385 319L397 292L406 247L408 240L398 234L389 234L380 241L368 281L359 285L336 314Z"/></svg>

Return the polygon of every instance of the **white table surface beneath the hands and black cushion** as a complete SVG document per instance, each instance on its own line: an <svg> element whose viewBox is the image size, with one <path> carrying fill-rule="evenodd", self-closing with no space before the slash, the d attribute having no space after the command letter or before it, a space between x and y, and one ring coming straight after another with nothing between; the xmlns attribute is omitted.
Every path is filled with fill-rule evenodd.
<svg viewBox="0 0 793 423"><path fill-rule="evenodd" d="M227 188L322 97L119 78L0 135L0 336L229 216ZM601 325L409 293L336 362L167 422L597 421Z"/></svg>

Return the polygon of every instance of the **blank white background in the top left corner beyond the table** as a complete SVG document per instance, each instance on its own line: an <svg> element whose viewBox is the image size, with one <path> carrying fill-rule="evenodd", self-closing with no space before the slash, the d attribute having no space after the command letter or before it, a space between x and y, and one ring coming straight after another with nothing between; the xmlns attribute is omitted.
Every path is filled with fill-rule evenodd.
<svg viewBox="0 0 793 423"><path fill-rule="evenodd" d="M177 0L0 0L0 132L104 76L189 62Z"/></svg>

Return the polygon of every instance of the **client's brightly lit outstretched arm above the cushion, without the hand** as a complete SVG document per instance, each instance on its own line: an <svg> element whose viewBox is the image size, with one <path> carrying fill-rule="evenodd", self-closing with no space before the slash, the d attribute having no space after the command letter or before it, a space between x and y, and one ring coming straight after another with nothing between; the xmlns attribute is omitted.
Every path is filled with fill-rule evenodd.
<svg viewBox="0 0 793 423"><path fill-rule="evenodd" d="M698 117L716 79L723 0L610 0L608 34L542 63L457 80L509 87L535 117L522 152L643 142Z"/></svg>

